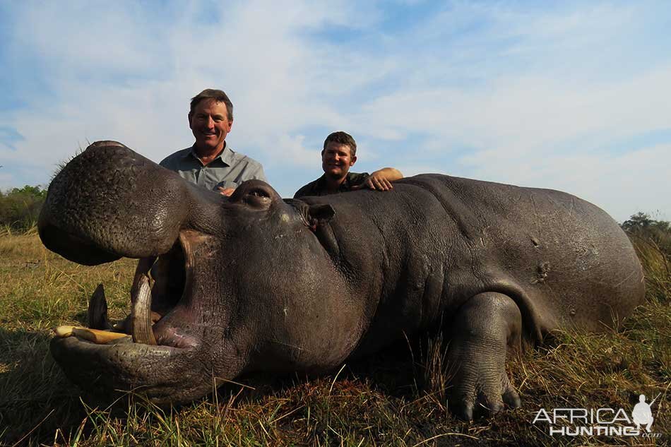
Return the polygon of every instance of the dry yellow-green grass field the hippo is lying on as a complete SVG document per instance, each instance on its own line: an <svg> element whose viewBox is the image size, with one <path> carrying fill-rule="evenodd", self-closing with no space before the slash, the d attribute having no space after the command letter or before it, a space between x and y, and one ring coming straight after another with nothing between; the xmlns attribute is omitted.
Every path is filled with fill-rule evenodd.
<svg viewBox="0 0 671 447"><path fill-rule="evenodd" d="M619 332L563 333L509 362L523 407L460 422L446 408L441 340L399 343L317 378L242 377L201 401L159 409L139 396L91 407L49 354L51 328L85 324L105 285L110 317L129 312L134 261L87 268L44 249L34 230L0 236L0 445L57 446L561 446L671 443L671 275L664 255L636 242L647 302ZM86 367L82 365L82 367ZM540 408L620 407L639 393L658 438L550 436Z"/></svg>

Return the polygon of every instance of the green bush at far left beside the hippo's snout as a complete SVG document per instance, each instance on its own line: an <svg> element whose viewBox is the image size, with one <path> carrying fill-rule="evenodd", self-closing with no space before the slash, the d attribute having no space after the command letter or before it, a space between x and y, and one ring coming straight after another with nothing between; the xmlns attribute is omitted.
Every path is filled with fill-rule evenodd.
<svg viewBox="0 0 671 447"><path fill-rule="evenodd" d="M40 186L23 186L0 191L0 230L24 232L37 222L47 190Z"/></svg>

